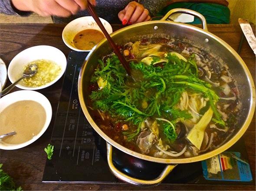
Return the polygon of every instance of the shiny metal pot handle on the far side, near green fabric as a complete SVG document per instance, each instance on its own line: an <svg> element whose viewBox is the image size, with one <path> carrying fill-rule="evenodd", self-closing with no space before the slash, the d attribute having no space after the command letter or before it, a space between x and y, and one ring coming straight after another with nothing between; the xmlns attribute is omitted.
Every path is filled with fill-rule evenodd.
<svg viewBox="0 0 256 191"><path fill-rule="evenodd" d="M169 18L169 16L173 15L174 13L185 13L185 14L196 16L197 18L199 18L201 20L202 25L203 25L203 30L208 31L207 22L206 22L204 16L196 11L189 10L189 9L181 9L181 8L172 9L168 13L166 13L166 15L161 20L167 20Z"/></svg>

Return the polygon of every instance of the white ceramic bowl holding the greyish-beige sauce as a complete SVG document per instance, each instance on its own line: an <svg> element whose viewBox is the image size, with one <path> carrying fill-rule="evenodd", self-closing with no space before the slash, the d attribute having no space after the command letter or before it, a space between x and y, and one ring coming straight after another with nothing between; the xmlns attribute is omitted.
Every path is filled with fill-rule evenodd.
<svg viewBox="0 0 256 191"><path fill-rule="evenodd" d="M26 141L25 143L21 143L21 144L8 144L8 143L4 143L4 142L0 141L0 149L14 150L14 149L20 149L24 146L30 145L31 143L33 143L34 141L36 141L39 137L41 137L43 135L43 133L46 131L46 129L48 128L48 126L51 122L53 111L52 111L52 106L51 106L49 100L45 96L43 96L43 94L36 92L36 91L31 91L31 90L20 90L20 91L16 91L16 92L7 94L6 96L3 96L0 99L0 113L7 106L9 106L15 102L23 101L23 100L33 100L35 102L40 103L43 106L43 108L46 111L45 124L44 124L42 130L39 132L39 134L37 134L31 140Z"/></svg>

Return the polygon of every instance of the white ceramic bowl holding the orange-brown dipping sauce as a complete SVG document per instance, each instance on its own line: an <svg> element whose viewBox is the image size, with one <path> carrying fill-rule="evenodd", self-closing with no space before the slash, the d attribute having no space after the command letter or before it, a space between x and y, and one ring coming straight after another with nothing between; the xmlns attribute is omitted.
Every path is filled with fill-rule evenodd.
<svg viewBox="0 0 256 191"><path fill-rule="evenodd" d="M111 25L106 20L102 18L99 19L101 20L108 34L111 34L113 32ZM74 51L91 51L91 49L79 50L73 45L73 39L75 35L85 29L96 29L98 31L101 31L92 16L83 16L78 19L72 20L71 22L69 22L69 24L66 25L66 27L62 31L62 40L69 48Z"/></svg>

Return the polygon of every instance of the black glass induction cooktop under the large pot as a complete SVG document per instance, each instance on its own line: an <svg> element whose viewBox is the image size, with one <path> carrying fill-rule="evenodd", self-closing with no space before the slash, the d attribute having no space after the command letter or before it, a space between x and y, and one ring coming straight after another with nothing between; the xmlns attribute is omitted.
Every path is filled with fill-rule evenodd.
<svg viewBox="0 0 256 191"><path fill-rule="evenodd" d="M108 168L106 143L86 120L79 104L79 71L88 52L71 51L56 111L51 144L54 154L46 160L43 182L120 184ZM247 160L246 147L240 139L230 151L240 152ZM135 178L158 177L165 165L135 158L113 148L113 161L122 172ZM162 184L254 184L254 181L212 181L203 176L201 162L181 164Z"/></svg>

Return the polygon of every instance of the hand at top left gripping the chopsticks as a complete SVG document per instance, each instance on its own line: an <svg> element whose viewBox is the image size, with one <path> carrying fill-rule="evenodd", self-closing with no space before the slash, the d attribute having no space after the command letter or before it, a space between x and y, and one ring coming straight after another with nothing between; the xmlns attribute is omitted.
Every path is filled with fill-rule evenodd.
<svg viewBox="0 0 256 191"><path fill-rule="evenodd" d="M79 10L85 10L90 2L96 5L96 0L11 0L13 6L20 11L32 11L41 16L68 17Z"/></svg>

